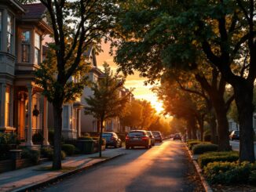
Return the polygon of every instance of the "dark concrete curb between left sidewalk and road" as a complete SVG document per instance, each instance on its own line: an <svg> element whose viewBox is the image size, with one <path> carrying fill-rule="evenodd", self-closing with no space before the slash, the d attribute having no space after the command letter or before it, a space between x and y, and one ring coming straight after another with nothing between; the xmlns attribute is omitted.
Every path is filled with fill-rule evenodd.
<svg viewBox="0 0 256 192"><path fill-rule="evenodd" d="M35 189L38 189L39 187L46 186L46 184L48 184L48 183L54 183L54 182L56 182L59 179L63 179L64 177L71 176L71 175L73 175L73 174L75 174L77 172L80 172L80 171L85 170L87 168L91 168L91 167L96 166L96 165L100 165L100 164L102 164L104 162L107 162L107 161L110 161L110 160L112 160L114 158L119 158L120 156L123 156L123 155L125 155L125 153L117 154L117 155L115 155L115 156L113 156L111 158L107 158L107 159L104 159L102 161L98 161L98 162L86 165L86 166L84 166L82 168L76 168L74 170L71 170L70 172L64 172L63 174L60 174L59 176L55 176L53 178L46 179L46 180L44 180L44 181L42 181L40 183L33 183L31 185L20 187L20 188L18 188L16 190L11 190L11 191L12 192L26 192L28 190L35 190Z"/></svg>

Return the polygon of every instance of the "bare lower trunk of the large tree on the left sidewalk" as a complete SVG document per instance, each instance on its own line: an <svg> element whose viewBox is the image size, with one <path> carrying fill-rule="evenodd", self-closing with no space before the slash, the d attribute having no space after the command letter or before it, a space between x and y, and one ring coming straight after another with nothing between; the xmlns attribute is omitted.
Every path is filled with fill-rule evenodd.
<svg viewBox="0 0 256 192"><path fill-rule="evenodd" d="M53 169L61 169L61 129L62 129L62 104L53 103L54 116L54 147Z"/></svg>

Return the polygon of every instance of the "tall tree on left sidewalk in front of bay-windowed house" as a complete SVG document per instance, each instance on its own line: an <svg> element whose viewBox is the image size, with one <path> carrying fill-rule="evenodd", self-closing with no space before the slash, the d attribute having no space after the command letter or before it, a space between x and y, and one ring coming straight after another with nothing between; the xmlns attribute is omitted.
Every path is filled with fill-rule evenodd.
<svg viewBox="0 0 256 192"><path fill-rule="evenodd" d="M20 0L20 2L35 2ZM53 67L42 65L38 71L38 84L43 94L53 103L54 150L53 168L61 168L62 105L80 96L84 84L70 82L73 75L81 70L82 54L92 44L101 51L99 43L112 27L115 3L104 0L40 0L46 6L47 18L53 28L53 40L49 47L56 58ZM49 56L50 57L50 56ZM52 59L48 59L50 61ZM46 66L46 65L45 65ZM47 69L51 71L47 71ZM80 76L81 77L81 76Z"/></svg>

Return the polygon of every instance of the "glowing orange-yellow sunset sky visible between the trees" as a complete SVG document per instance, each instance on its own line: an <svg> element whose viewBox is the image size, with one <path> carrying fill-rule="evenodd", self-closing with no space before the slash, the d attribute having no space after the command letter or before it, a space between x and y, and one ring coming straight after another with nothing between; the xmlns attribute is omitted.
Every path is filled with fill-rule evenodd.
<svg viewBox="0 0 256 192"><path fill-rule="evenodd" d="M117 69L116 64L113 61L113 57L109 55L109 44L102 44L102 49L104 50L103 53L100 53L97 56L97 67L102 69L102 64L104 61L106 61L113 71ZM138 73L135 73L133 75L129 75L126 78L125 87L127 89L135 88L133 91L133 95L136 99L140 100L148 100L152 103L152 107L155 107L155 110L160 113L163 110L162 103L157 100L157 96L154 92L152 92L150 89L152 88L152 85L144 85L144 81L146 78L141 78Z"/></svg>

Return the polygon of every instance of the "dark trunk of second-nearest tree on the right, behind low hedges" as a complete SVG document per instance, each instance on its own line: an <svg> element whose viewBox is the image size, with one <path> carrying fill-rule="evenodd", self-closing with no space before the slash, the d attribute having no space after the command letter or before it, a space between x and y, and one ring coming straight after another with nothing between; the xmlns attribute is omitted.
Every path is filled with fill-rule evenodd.
<svg viewBox="0 0 256 192"><path fill-rule="evenodd" d="M227 110L225 109L225 100L223 97L215 97L213 104L217 118L218 150L231 150L229 144L229 121L227 118Z"/></svg>

